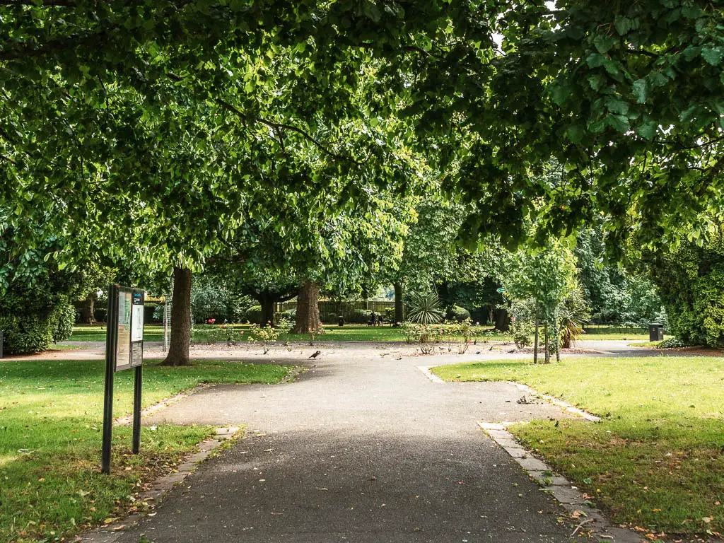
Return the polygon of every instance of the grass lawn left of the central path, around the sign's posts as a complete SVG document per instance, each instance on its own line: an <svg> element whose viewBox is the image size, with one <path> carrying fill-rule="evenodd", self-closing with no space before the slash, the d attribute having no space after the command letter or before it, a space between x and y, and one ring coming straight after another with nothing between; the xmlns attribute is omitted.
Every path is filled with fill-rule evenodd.
<svg viewBox="0 0 724 543"><path fill-rule="evenodd" d="M146 364L143 403L202 382L275 383L287 366L210 361ZM168 472L212 429L143 428L130 454L130 428L114 429L113 475L100 472L104 362L0 363L0 541L56 541L130 507L130 496ZM132 371L116 374L114 416L132 409ZM136 504L138 505L138 504Z"/></svg>

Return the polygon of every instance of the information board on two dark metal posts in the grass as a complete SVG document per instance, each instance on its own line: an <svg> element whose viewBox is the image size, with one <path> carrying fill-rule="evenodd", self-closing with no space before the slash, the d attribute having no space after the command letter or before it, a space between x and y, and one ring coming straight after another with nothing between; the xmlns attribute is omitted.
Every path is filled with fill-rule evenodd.
<svg viewBox="0 0 724 543"><path fill-rule="evenodd" d="M116 371L135 369L133 379L132 450L140 450L140 405L143 374L143 290L110 285L106 328L106 385L104 389L101 471L111 473L113 439L113 380Z"/></svg>

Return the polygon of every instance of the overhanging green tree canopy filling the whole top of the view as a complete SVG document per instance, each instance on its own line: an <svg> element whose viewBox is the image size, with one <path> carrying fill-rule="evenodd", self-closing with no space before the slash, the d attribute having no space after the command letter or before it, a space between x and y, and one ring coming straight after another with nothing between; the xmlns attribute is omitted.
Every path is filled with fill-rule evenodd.
<svg viewBox="0 0 724 543"><path fill-rule="evenodd" d="M403 184L407 146L479 203L471 237L518 241L535 214L544 239L602 212L653 243L722 211L715 2L5 0L0 19L0 206L70 217L74 237L90 223L108 248L153 201L203 259L214 229L178 209L231 231L259 186ZM554 184L531 176L550 156Z"/></svg>

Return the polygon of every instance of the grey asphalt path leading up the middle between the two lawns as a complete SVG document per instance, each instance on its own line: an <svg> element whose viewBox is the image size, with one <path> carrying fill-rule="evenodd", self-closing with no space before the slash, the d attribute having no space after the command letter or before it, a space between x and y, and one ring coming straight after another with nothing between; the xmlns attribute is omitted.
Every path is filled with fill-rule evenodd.
<svg viewBox="0 0 724 543"><path fill-rule="evenodd" d="M119 542L568 542L562 508L476 421L563 418L505 383L439 384L448 357L322 355L297 382L216 386L145 424L247 424ZM450 357L450 361L460 358Z"/></svg>

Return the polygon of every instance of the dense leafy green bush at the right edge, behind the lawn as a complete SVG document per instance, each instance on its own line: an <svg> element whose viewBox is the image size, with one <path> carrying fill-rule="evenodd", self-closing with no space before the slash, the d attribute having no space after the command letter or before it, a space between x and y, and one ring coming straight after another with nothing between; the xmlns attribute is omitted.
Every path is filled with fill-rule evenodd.
<svg viewBox="0 0 724 543"><path fill-rule="evenodd" d="M668 314L668 332L687 345L724 346L724 233L649 253L651 280Z"/></svg>

